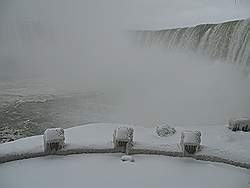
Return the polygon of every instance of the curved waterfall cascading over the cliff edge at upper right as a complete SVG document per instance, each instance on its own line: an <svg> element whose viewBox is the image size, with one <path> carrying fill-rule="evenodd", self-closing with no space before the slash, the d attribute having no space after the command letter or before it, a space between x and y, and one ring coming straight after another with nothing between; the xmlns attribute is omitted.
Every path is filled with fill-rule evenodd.
<svg viewBox="0 0 250 188"><path fill-rule="evenodd" d="M195 27L136 32L142 46L188 49L240 65L250 65L250 19Z"/></svg>

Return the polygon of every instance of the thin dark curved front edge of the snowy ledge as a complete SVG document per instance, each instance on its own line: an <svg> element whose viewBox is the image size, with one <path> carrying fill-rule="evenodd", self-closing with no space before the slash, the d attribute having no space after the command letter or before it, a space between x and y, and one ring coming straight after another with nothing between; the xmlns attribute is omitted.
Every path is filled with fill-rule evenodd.
<svg viewBox="0 0 250 188"><path fill-rule="evenodd" d="M79 148L79 149L63 149L61 151L56 152L53 155L72 155L72 154L83 154L83 153L119 153L124 152L121 149L114 149L114 148ZM152 149L132 149L131 154L146 154L146 155L164 155L164 156L171 156L171 157L183 157L182 152L178 151L164 151L164 150L152 150ZM0 157L0 164L6 163L15 160L22 160L22 159L29 159L29 158L36 158L36 157L44 157L51 154L47 154L45 152L34 152L34 153L23 153L23 154L10 154ZM229 165L233 165L236 167L242 167L246 169L250 169L249 163L234 161L218 156L211 156L211 155L190 155L189 157L202 160L202 161L211 161L211 162L219 162L225 163Z"/></svg>

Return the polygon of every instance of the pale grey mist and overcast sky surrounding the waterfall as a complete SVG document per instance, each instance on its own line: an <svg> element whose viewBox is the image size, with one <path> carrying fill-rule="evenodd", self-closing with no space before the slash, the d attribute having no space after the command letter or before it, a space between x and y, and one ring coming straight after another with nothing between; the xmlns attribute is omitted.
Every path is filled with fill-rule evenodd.
<svg viewBox="0 0 250 188"><path fill-rule="evenodd" d="M100 92L112 106L110 122L223 124L250 115L244 67L139 48L127 31L247 18L249 7L244 0L2 0L0 81Z"/></svg>

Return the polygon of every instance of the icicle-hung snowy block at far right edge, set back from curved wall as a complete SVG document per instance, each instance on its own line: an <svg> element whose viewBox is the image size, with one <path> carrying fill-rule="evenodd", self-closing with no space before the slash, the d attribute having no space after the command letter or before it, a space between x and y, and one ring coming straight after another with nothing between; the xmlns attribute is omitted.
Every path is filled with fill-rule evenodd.
<svg viewBox="0 0 250 188"><path fill-rule="evenodd" d="M250 131L250 119L246 117L230 119L228 128L232 131Z"/></svg>

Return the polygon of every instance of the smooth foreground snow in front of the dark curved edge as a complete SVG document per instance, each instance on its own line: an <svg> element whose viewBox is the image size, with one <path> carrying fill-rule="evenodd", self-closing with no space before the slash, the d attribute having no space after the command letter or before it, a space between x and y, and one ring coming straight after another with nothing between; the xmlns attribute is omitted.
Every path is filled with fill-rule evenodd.
<svg viewBox="0 0 250 188"><path fill-rule="evenodd" d="M250 171L232 166L165 156L122 154L48 156L0 165L3 188L192 187L248 188ZM25 173L23 173L25 172Z"/></svg>

